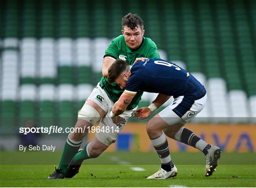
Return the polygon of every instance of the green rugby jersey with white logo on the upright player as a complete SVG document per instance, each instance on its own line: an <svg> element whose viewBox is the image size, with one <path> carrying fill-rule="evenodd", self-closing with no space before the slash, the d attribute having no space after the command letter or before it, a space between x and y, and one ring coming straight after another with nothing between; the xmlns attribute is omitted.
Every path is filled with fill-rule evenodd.
<svg viewBox="0 0 256 188"><path fill-rule="evenodd" d="M125 60L129 65L133 65L136 58L160 58L157 47L150 38L143 37L141 45L136 50L131 50L126 45L123 35L119 35L117 38L112 40L109 47L105 51L104 57L106 56L113 57L114 59ZM114 103L118 101L119 97L124 91L116 83L108 83L108 79L105 77L101 78L101 87L105 90L110 97L110 100L112 100ZM142 94L143 91L137 92L131 103L128 105L127 110L131 110L138 105Z"/></svg>

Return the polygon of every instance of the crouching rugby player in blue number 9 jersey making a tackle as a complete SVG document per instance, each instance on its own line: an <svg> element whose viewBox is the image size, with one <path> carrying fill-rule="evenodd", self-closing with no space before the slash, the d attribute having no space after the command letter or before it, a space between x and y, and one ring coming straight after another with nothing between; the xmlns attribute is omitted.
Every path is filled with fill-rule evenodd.
<svg viewBox="0 0 256 188"><path fill-rule="evenodd" d="M108 81L125 89L110 113L111 118L122 114L138 91L159 93L148 106L138 109L134 116L146 119L164 104L170 96L174 102L148 121L147 134L161 160L159 171L147 179L167 179L177 175L166 137L173 138L202 151L206 156L205 176L216 171L221 150L197 137L184 124L204 107L206 90L201 83L183 68L161 59L139 58L132 68L123 60L116 60L108 70Z"/></svg>

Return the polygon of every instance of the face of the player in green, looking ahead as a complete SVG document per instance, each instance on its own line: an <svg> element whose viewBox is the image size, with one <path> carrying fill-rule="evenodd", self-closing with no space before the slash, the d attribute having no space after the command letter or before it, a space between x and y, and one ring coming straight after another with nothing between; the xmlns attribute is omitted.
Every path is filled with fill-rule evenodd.
<svg viewBox="0 0 256 188"><path fill-rule="evenodd" d="M128 26L124 26L122 34L125 37L125 43L131 50L136 50L142 42L144 35L144 30L141 27L136 27L135 30L132 30Z"/></svg>

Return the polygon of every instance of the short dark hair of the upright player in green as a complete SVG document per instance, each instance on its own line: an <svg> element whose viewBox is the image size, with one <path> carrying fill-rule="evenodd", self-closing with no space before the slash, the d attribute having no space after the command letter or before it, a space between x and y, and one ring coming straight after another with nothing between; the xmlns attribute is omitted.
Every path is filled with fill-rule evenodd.
<svg viewBox="0 0 256 188"><path fill-rule="evenodd" d="M128 13L122 18L122 27L127 26L131 28L133 31L137 26L139 26L141 29L144 28L143 26L143 20L137 15Z"/></svg>

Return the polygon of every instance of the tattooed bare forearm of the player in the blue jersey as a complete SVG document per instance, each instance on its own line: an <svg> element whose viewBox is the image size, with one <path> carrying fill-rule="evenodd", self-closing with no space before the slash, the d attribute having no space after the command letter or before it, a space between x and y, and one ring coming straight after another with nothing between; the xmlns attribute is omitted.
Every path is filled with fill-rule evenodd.
<svg viewBox="0 0 256 188"><path fill-rule="evenodd" d="M110 115L111 118L122 114L126 110L127 106L131 103L134 96L135 94L128 94L125 92L121 94L119 100L114 104L114 107L112 108Z"/></svg>

